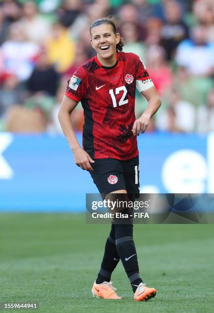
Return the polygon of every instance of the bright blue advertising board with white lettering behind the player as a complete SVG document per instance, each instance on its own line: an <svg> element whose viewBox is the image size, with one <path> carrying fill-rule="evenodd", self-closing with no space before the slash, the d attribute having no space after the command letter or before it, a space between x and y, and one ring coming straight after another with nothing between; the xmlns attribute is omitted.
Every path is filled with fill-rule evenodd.
<svg viewBox="0 0 214 313"><path fill-rule="evenodd" d="M213 134L145 133L138 149L140 192L214 193ZM86 193L98 190L63 136L0 133L0 211L83 211Z"/></svg>

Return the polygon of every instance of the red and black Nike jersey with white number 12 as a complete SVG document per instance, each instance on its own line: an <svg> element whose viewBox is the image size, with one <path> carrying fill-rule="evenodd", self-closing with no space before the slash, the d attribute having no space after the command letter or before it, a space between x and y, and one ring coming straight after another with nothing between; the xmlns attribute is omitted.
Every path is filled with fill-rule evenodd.
<svg viewBox="0 0 214 313"><path fill-rule="evenodd" d="M152 85L144 63L133 53L118 52L115 65L108 68L93 57L76 70L65 95L82 103L83 149L92 159L136 157L135 89L141 92Z"/></svg>

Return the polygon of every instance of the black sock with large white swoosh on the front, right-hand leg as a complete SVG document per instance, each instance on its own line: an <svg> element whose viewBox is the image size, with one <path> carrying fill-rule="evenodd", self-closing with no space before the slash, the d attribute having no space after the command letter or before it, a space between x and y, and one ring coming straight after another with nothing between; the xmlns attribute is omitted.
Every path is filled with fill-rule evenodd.
<svg viewBox="0 0 214 313"><path fill-rule="evenodd" d="M142 282L139 275L137 252L133 240L133 225L115 224L115 242L118 255L121 258L130 283Z"/></svg>

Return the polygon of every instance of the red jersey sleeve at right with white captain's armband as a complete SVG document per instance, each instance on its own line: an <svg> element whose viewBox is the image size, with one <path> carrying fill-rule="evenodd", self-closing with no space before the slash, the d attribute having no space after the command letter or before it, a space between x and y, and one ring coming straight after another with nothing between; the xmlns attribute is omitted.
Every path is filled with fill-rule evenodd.
<svg viewBox="0 0 214 313"><path fill-rule="evenodd" d="M136 87L139 93L154 86L152 79L147 72L144 62L136 55L133 54L136 69Z"/></svg>

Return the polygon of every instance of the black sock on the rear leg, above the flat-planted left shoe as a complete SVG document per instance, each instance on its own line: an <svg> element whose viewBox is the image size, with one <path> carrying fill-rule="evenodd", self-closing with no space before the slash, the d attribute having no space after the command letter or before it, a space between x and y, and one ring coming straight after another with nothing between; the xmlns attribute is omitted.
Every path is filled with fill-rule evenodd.
<svg viewBox="0 0 214 313"><path fill-rule="evenodd" d="M114 224L112 224L110 234L106 240L103 261L96 283L101 284L104 281L110 281L111 273L119 261L120 256L118 255L115 244L115 228Z"/></svg>

